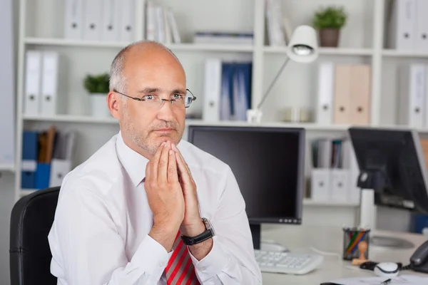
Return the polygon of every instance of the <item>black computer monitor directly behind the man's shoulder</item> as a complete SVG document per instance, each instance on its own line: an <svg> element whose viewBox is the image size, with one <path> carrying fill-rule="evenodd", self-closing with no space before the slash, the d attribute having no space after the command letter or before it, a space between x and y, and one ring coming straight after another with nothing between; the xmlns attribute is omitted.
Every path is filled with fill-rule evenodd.
<svg viewBox="0 0 428 285"><path fill-rule="evenodd" d="M301 224L304 129L189 125L188 141L233 171L255 249L260 249L260 224Z"/></svg>

